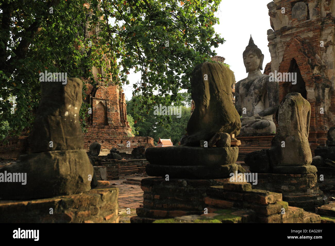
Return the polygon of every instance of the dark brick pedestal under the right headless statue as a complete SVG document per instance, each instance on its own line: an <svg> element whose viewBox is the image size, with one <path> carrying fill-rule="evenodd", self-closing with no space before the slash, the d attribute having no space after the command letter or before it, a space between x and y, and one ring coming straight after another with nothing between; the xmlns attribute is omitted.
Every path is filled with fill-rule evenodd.
<svg viewBox="0 0 335 246"><path fill-rule="evenodd" d="M289 206L315 211L316 207L326 204L327 198L318 186L316 173L281 174L258 173L256 189L280 192Z"/></svg>

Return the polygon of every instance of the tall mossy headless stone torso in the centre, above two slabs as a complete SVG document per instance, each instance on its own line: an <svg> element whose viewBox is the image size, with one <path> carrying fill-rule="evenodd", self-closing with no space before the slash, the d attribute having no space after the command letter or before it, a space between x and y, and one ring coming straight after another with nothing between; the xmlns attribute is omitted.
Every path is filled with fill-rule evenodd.
<svg viewBox="0 0 335 246"><path fill-rule="evenodd" d="M240 117L231 101L233 83L233 72L223 64L205 62L194 68L191 87L195 109L187 124L185 145L199 146L200 140L209 141L219 132L240 133Z"/></svg>

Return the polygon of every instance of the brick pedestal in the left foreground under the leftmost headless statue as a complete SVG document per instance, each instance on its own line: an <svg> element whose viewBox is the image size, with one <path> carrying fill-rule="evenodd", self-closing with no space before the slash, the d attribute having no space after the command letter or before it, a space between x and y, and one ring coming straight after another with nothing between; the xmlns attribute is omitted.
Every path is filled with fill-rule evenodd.
<svg viewBox="0 0 335 246"><path fill-rule="evenodd" d="M119 223L119 189L24 201L0 200L0 223Z"/></svg>

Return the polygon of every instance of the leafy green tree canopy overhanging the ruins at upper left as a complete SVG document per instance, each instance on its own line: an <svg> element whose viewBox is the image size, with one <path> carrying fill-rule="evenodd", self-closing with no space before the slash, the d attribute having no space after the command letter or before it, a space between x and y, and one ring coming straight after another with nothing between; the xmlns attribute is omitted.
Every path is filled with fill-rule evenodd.
<svg viewBox="0 0 335 246"><path fill-rule="evenodd" d="M131 69L140 72L141 80L134 84L134 94L141 93L134 98L139 105L134 119L153 105L178 102L181 88L190 92L193 67L210 61L216 55L212 47L224 42L213 28L219 3L0 0L0 122L7 120L13 134L31 126L45 70L95 83L95 66L106 83L121 86L129 84ZM16 98L14 114L11 95ZM81 118L87 107L83 104Z"/></svg>

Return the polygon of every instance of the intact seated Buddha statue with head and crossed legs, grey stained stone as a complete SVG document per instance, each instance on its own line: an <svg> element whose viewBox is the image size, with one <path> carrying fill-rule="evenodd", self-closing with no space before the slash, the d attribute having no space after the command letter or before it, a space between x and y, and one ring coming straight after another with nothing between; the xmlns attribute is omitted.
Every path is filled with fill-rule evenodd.
<svg viewBox="0 0 335 246"><path fill-rule="evenodd" d="M243 52L248 77L236 83L235 107L241 116L241 135L276 133L272 115L279 105L279 84L276 78L265 75L264 55L250 36Z"/></svg>

